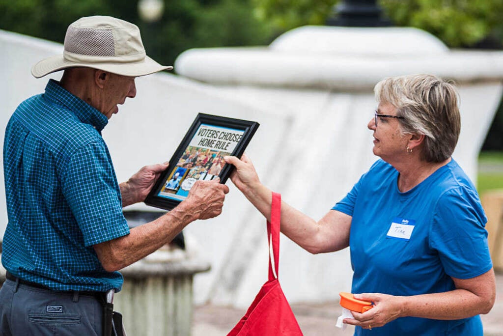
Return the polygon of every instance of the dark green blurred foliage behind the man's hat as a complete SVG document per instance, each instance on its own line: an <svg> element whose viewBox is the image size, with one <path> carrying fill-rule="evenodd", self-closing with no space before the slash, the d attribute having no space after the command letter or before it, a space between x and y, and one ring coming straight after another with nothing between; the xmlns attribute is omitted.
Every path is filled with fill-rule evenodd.
<svg viewBox="0 0 503 336"><path fill-rule="evenodd" d="M80 17L110 15L136 24L149 56L173 64L195 47L263 45L272 26L254 15L251 0L164 0L160 20L140 20L138 1L0 0L0 29L62 43L68 25Z"/></svg>

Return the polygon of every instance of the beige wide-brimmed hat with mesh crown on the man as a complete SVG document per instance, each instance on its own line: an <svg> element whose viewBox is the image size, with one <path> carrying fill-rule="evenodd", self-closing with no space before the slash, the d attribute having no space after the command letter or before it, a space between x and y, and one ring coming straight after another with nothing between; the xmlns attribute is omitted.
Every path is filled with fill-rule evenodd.
<svg viewBox="0 0 503 336"><path fill-rule="evenodd" d="M160 65L145 54L136 25L109 16L86 17L72 23L66 31L63 55L41 60L31 72L40 78L74 66L124 76L144 76L173 69L173 66Z"/></svg>

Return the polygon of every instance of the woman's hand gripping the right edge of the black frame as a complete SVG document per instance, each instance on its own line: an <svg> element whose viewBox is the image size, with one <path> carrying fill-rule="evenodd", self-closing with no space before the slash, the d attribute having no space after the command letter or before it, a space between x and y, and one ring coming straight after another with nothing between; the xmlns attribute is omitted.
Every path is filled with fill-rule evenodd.
<svg viewBox="0 0 503 336"><path fill-rule="evenodd" d="M236 156L224 156L226 163L232 164L236 167L234 172L230 175L230 180L244 195L254 193L254 190L260 186L259 176L251 160L243 154L241 159Z"/></svg>

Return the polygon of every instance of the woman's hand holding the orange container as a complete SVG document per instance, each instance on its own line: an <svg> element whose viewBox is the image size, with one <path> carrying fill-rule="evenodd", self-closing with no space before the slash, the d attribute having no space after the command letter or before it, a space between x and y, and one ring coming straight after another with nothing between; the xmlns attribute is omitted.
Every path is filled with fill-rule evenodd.
<svg viewBox="0 0 503 336"><path fill-rule="evenodd" d="M354 318L345 318L344 322L358 325L364 329L372 329L401 316L401 307L404 297L381 293L355 294L355 299L374 303L372 309L364 313L352 311Z"/></svg>

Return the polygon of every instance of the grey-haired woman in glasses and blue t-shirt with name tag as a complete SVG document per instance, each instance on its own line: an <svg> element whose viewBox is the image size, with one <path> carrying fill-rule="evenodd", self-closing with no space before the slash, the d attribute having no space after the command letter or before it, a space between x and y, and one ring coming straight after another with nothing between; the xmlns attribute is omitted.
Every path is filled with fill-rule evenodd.
<svg viewBox="0 0 503 336"><path fill-rule="evenodd" d="M355 334L482 335L495 280L486 217L475 187L451 158L460 132L457 92L432 75L386 78L369 121L381 159L318 222L282 203L281 231L310 253L350 246ZM271 191L251 161L232 182L269 218Z"/></svg>

